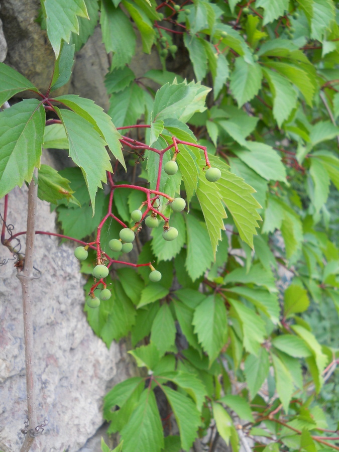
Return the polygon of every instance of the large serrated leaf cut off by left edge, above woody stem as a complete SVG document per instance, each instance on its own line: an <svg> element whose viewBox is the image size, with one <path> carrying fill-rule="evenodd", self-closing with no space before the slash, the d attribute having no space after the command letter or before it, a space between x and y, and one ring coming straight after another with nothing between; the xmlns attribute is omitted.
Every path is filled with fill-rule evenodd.
<svg viewBox="0 0 339 452"><path fill-rule="evenodd" d="M45 110L36 99L25 99L0 112L0 198L16 185L30 182L40 166Z"/></svg>

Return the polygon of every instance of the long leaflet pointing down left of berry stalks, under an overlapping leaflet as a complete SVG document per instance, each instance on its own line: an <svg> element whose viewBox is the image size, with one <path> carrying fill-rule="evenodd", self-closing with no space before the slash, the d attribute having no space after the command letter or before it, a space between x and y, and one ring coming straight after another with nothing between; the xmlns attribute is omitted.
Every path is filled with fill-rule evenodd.
<svg viewBox="0 0 339 452"><path fill-rule="evenodd" d="M85 178L94 214L97 187L102 187L101 181L106 182L106 171L112 171L105 142L94 126L74 111L55 109L66 130L69 156Z"/></svg>

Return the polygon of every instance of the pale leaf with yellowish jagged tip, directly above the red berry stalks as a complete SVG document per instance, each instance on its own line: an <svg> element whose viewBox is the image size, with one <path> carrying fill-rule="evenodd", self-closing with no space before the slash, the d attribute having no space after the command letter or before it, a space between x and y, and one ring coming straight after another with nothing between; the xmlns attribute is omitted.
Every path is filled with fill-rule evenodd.
<svg viewBox="0 0 339 452"><path fill-rule="evenodd" d="M210 90L200 82L166 83L154 98L154 120L174 118L186 123L195 112L206 109L205 97Z"/></svg>

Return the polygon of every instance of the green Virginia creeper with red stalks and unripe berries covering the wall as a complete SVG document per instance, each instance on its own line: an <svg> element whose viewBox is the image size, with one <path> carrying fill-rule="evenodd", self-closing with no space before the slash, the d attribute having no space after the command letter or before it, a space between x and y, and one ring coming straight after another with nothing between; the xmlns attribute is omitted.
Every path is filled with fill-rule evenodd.
<svg viewBox="0 0 339 452"><path fill-rule="evenodd" d="M234 451L339 450L336 4L41 6L56 56L47 92L0 64L0 104L11 104L0 113L2 244L25 269L14 239L26 232L8 235L7 205L39 168L54 235L78 244L88 275L89 324L107 347L129 336L147 370L104 399L119 450L188 451L202 438L213 451L220 437ZM98 21L107 114L54 96ZM163 70L136 78L135 30ZM191 79L168 70L177 61ZM15 103L24 90L34 98ZM42 148L68 149L77 168L41 165Z"/></svg>

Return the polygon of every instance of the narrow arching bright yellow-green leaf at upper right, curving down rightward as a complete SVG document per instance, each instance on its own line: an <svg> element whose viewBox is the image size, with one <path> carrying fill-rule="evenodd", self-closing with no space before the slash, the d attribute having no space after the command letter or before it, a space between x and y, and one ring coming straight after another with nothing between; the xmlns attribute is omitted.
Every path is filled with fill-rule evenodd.
<svg viewBox="0 0 339 452"><path fill-rule="evenodd" d="M269 61L266 63L272 69L275 69L284 77L288 78L303 94L306 102L312 106L312 100L314 96L313 80L310 80L307 72L303 69L293 66L291 64Z"/></svg>

